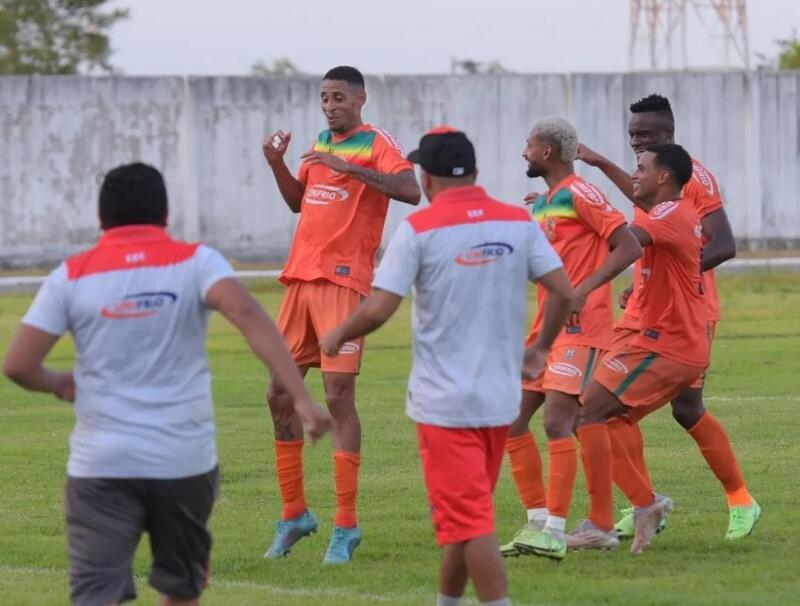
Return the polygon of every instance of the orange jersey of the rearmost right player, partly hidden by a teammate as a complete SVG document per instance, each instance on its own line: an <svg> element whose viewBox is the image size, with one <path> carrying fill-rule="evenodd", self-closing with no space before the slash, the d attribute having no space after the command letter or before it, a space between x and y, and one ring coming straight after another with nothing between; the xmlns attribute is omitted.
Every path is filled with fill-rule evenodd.
<svg viewBox="0 0 800 606"><path fill-rule="evenodd" d="M720 196L717 180L714 178L714 175L695 159L692 159L692 178L683 186L682 197L692 202L697 216L700 217L700 219L722 208L722 197ZM646 216L646 213L638 207L634 207L634 221L643 216ZM707 241L708 238L704 234L703 244ZM633 267L633 284L639 284L640 282L640 264L641 261L637 261ZM712 322L717 322L720 318L719 295L717 294L717 282L714 277L714 270L711 269L705 272L703 274L703 280L706 305L708 305L708 319ZM634 296L631 296L628 300L625 313L619 320L628 325L634 324L639 318L639 305L635 294L634 292Z"/></svg>

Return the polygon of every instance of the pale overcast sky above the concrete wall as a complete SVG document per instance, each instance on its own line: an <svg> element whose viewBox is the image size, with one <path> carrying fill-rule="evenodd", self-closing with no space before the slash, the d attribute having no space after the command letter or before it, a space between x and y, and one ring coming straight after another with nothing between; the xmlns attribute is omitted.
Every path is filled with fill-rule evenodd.
<svg viewBox="0 0 800 606"><path fill-rule="evenodd" d="M629 0L112 0L130 19L111 31L129 75L236 75L288 57L311 74L351 64L370 74L448 73L451 57L516 72L628 68ZM751 55L800 32L800 0L748 3ZM693 67L722 46L692 17ZM641 55L640 55L641 56ZM758 63L754 58L754 64Z"/></svg>

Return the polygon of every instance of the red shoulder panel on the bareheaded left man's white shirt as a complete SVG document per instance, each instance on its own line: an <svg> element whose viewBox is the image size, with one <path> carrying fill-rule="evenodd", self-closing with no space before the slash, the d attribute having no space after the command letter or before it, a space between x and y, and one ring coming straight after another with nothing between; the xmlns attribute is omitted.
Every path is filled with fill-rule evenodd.
<svg viewBox="0 0 800 606"><path fill-rule="evenodd" d="M67 259L67 278L78 280L92 274L163 267L191 259L199 243L173 240L164 228L127 225L109 229L97 246Z"/></svg>

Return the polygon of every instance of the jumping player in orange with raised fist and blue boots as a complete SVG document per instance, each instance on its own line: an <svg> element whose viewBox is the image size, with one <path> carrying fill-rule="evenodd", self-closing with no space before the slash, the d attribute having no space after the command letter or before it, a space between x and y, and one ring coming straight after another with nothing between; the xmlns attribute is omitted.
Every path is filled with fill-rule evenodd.
<svg viewBox="0 0 800 606"><path fill-rule="evenodd" d="M280 277L287 289L277 324L301 371L321 369L333 418L336 514L326 564L350 561L361 541L356 520L361 425L355 384L364 343L348 341L331 357L321 352L319 339L369 295L389 199L417 204L421 196L413 165L394 137L362 122L366 100L364 77L357 69L341 66L325 74L320 101L328 129L303 155L297 177L284 162L290 133L278 131L263 144L283 199L292 212L300 213ZM317 519L305 501L302 426L276 377L267 401L275 425L283 511L265 557L277 558L315 532Z"/></svg>

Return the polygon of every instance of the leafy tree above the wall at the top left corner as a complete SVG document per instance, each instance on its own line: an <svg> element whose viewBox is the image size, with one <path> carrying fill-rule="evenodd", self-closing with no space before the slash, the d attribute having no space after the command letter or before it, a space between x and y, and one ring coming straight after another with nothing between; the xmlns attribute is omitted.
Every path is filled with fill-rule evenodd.
<svg viewBox="0 0 800 606"><path fill-rule="evenodd" d="M0 74L112 71L108 30L126 9L108 0L2 0Z"/></svg>

